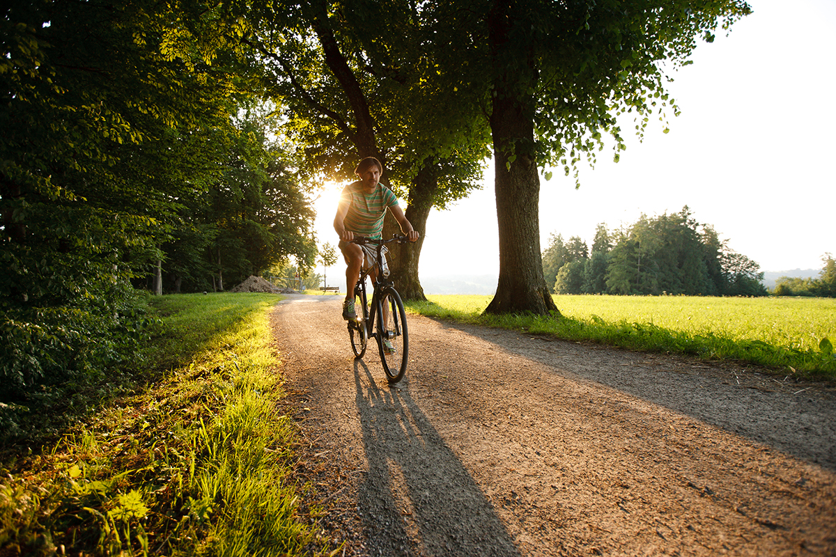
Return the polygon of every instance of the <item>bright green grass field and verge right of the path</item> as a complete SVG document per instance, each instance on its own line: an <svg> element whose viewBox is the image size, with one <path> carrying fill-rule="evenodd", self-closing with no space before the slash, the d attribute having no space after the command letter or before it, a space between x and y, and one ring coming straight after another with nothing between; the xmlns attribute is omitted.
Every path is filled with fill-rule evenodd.
<svg viewBox="0 0 836 557"><path fill-rule="evenodd" d="M491 296L427 296L413 311L630 350L750 362L836 381L836 300L705 296L553 296L563 314L482 316Z"/></svg>

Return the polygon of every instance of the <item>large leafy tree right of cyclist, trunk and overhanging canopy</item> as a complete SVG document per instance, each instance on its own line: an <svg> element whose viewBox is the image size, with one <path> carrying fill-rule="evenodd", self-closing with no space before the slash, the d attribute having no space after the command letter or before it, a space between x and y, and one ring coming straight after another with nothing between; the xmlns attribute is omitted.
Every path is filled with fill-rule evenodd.
<svg viewBox="0 0 836 557"><path fill-rule="evenodd" d="M749 7L738 0L451 4L483 23L472 27L458 67L482 69L490 99L500 271L486 311L554 311L538 241L538 165L560 161L568 174L581 158L594 162L602 134L624 149L616 117L635 114L642 133L668 103L662 64L687 63L698 36L711 42L718 26L728 28Z"/></svg>

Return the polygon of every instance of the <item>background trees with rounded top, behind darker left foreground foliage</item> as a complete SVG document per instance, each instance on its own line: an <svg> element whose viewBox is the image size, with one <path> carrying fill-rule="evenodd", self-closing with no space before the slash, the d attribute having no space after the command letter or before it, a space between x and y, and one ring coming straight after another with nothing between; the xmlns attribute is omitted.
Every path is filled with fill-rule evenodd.
<svg viewBox="0 0 836 557"><path fill-rule="evenodd" d="M222 171L181 201L162 246L163 291L222 291L291 255L303 269L314 265L314 210L287 150L269 139L270 122L263 109L242 110L239 133L218 160Z"/></svg>

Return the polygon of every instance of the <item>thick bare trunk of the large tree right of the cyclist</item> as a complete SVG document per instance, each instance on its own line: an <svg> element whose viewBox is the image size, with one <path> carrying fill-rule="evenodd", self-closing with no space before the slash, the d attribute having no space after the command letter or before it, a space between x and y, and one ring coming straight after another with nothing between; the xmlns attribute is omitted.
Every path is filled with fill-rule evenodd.
<svg viewBox="0 0 836 557"><path fill-rule="evenodd" d="M494 68L491 134L499 221L499 281L486 313L557 311L543 278L540 255L540 179L534 158L531 49L509 41L516 12L495 0L489 21ZM524 31L523 31L524 33ZM521 58L526 64L521 64ZM513 68L512 68L513 66Z"/></svg>

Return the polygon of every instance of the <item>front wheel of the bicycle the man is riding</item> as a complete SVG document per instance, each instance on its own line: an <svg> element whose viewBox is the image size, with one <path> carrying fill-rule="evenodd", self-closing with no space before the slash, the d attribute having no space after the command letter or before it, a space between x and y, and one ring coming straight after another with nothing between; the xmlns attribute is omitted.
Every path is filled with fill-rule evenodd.
<svg viewBox="0 0 836 557"><path fill-rule="evenodd" d="M383 311L385 308L388 311ZM390 383L399 382L406 372L410 338L406 330L404 302L395 289L377 300L377 346L380 362Z"/></svg>

